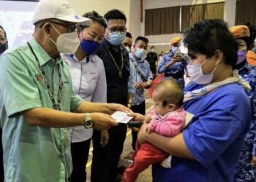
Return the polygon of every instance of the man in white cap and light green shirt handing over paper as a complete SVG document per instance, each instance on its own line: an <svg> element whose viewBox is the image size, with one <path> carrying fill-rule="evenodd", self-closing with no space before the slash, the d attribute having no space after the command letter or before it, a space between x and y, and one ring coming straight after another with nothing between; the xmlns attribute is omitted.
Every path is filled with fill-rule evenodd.
<svg viewBox="0 0 256 182"><path fill-rule="evenodd" d="M34 12L34 36L0 59L6 181L67 181L72 170L68 127L108 129L117 125L108 114L128 109L90 103L73 92L59 53L78 48L76 23L91 20L75 15L67 0L41 0Z"/></svg>

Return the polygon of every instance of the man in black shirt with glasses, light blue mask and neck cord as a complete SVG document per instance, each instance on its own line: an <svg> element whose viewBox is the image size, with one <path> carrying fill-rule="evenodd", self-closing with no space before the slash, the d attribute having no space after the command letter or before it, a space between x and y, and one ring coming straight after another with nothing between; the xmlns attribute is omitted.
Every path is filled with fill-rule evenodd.
<svg viewBox="0 0 256 182"><path fill-rule="evenodd" d="M105 66L107 100L108 103L121 103L127 106L130 73L129 54L121 45L127 32L127 18L118 9L110 10L104 17L107 20L108 27L97 55L103 60ZM108 132L108 144L102 148L100 146L100 133L94 130L91 182L116 181L117 165L123 151L127 125L118 124L117 127L112 127Z"/></svg>

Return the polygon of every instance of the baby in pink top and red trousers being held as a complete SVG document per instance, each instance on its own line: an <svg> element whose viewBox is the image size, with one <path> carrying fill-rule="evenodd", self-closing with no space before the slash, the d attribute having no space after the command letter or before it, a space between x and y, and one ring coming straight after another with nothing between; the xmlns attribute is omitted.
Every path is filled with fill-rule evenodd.
<svg viewBox="0 0 256 182"><path fill-rule="evenodd" d="M153 91L154 109L147 114L152 115L148 132L160 135L177 135L184 128L185 111L182 108L183 90L174 79L164 79ZM155 162L162 162L170 154L151 145L137 141L136 151L132 154L134 162L124 171L123 182L135 181L139 173Z"/></svg>

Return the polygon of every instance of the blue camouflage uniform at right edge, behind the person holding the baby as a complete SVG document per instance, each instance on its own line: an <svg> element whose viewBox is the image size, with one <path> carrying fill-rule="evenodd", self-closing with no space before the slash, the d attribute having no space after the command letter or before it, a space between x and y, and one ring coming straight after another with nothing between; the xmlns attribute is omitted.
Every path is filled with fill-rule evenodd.
<svg viewBox="0 0 256 182"><path fill-rule="evenodd" d="M246 94L252 106L252 122L249 131L246 133L245 142L236 166L235 181L256 181L256 167L252 167L252 154L256 155L256 67L249 65L247 62L238 69L243 79L249 82L252 90Z"/></svg>

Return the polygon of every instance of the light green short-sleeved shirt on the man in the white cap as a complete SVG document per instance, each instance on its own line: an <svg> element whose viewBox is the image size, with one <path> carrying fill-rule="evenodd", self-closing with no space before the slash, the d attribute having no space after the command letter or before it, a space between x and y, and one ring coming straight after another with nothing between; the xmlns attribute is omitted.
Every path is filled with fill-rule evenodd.
<svg viewBox="0 0 256 182"><path fill-rule="evenodd" d="M67 65L53 60L32 38L29 43L39 64L45 68L50 90L57 100L59 71L64 82L61 110L70 111L82 102L72 90ZM52 108L48 90L28 45L7 51L0 58L0 92L2 100L4 173L6 181L67 181L71 170L69 128L32 126L21 111L30 108Z"/></svg>

